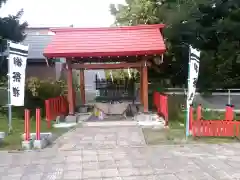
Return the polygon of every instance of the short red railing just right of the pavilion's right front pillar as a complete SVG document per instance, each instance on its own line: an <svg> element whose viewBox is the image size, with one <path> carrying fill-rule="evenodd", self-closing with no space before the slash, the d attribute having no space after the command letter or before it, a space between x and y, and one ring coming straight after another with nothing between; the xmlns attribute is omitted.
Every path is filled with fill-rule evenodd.
<svg viewBox="0 0 240 180"><path fill-rule="evenodd" d="M153 93L153 103L157 108L157 112L165 119L165 126L168 126L168 97L159 92Z"/></svg>

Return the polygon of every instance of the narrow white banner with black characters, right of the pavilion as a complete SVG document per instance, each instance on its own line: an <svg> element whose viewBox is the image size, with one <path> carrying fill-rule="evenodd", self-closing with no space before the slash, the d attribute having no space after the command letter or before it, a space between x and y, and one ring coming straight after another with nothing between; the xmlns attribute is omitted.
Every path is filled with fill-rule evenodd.
<svg viewBox="0 0 240 180"><path fill-rule="evenodd" d="M199 74L200 51L190 46L187 105L193 103Z"/></svg>

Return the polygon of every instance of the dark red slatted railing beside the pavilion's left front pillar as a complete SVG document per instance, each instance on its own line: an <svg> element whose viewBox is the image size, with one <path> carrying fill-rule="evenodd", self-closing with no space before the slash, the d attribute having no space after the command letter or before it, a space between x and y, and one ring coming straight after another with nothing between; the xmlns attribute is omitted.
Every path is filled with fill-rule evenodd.
<svg viewBox="0 0 240 180"><path fill-rule="evenodd" d="M45 112L48 127L50 128L52 120L56 120L57 116L68 113L67 99L64 96L59 96L45 100Z"/></svg>

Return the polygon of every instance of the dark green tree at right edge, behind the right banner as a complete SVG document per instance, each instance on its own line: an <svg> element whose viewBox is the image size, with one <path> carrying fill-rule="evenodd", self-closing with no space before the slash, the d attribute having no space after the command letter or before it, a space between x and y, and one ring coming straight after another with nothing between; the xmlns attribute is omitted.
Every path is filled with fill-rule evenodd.
<svg viewBox="0 0 240 180"><path fill-rule="evenodd" d="M182 41L203 52L199 86L239 87L240 1L214 0L200 4L191 17L179 29Z"/></svg>

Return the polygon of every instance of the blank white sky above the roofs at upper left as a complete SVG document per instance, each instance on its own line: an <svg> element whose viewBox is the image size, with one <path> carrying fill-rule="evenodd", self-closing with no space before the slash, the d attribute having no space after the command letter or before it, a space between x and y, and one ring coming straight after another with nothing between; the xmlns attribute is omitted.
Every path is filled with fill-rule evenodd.
<svg viewBox="0 0 240 180"><path fill-rule="evenodd" d="M114 17L109 5L125 0L8 0L0 9L0 17L24 10L21 21L29 27L107 27Z"/></svg>

